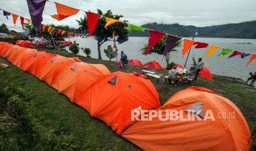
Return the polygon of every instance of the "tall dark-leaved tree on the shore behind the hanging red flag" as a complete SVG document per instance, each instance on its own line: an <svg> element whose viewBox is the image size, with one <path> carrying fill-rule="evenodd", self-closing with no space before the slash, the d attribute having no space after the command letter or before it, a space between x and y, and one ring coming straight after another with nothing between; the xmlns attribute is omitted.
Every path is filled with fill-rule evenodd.
<svg viewBox="0 0 256 151"><path fill-rule="evenodd" d="M98 50L98 55L99 55L99 59L101 60L101 50L100 47L102 44L104 44L105 42L110 41L113 37L112 34L115 31L115 35L117 37L116 41L121 44L124 43L128 40L128 24L120 24L120 23L115 23L112 24L111 26L107 27L107 30L105 29L105 25L106 25L106 20L104 17L107 18L112 18L112 19L116 19L119 20L120 18L122 18L122 15L113 15L111 10L107 10L107 12L104 14L102 13L102 11L100 9L97 9L97 14L101 15L101 18L98 21L98 24L95 28L94 34L92 35L92 37L97 40L97 50ZM77 20L78 24L79 24L79 28L78 31L81 33L89 33L88 31L88 23L87 23L87 18L84 15L84 18L80 18L80 20ZM128 21L124 21L124 22L128 22Z"/></svg>

